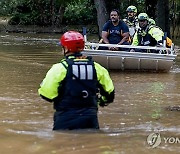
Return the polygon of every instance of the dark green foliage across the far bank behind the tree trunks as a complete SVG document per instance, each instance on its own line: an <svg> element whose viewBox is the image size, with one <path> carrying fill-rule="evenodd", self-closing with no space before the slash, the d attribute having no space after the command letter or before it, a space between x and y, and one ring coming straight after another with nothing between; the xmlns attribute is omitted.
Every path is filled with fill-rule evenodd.
<svg viewBox="0 0 180 154"><path fill-rule="evenodd" d="M54 4L51 4L53 1ZM97 22L97 14L93 1L0 0L0 16L11 16L10 24L52 25L60 15L63 16L64 24L94 24ZM145 12L146 0L106 0L106 2L108 5L107 9L116 8L120 10L121 18L127 15L126 8L129 5L135 5L138 13ZM173 2L176 6L173 5ZM65 8L65 12L61 12L60 14L59 8L61 6ZM52 11L52 7L54 12ZM179 10L180 0L170 0L170 14L172 18L179 17ZM54 21L53 18L55 19ZM178 22L180 21L178 20Z"/></svg>

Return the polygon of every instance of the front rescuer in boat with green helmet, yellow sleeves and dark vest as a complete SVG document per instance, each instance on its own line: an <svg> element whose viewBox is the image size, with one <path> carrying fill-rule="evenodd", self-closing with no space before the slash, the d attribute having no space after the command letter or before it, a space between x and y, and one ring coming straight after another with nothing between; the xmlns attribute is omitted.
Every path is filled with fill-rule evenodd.
<svg viewBox="0 0 180 154"><path fill-rule="evenodd" d="M146 13L138 15L139 29L136 31L132 45L135 46L163 46L164 32L156 25L149 22ZM131 49L137 52L147 52L145 49ZM159 51L151 50L150 52L158 53Z"/></svg>

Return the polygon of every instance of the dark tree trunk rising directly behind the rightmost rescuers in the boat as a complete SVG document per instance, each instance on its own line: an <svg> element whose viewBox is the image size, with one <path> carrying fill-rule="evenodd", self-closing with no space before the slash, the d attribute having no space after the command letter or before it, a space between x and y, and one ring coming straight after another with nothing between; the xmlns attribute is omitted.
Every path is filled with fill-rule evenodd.
<svg viewBox="0 0 180 154"><path fill-rule="evenodd" d="M170 37L169 0L157 2L157 25Z"/></svg>

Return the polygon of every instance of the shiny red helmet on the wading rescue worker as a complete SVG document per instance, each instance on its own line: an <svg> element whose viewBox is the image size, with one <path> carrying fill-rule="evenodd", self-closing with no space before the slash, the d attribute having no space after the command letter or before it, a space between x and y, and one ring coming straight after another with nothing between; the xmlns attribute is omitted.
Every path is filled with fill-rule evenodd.
<svg viewBox="0 0 180 154"><path fill-rule="evenodd" d="M60 43L69 52L80 52L84 49L84 37L79 32L68 31L64 33L60 39Z"/></svg>

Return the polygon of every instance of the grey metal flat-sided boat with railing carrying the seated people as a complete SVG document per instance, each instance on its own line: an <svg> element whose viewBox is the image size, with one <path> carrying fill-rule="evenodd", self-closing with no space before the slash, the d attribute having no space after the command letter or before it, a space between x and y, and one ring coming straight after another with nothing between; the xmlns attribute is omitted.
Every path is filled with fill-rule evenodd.
<svg viewBox="0 0 180 154"><path fill-rule="evenodd" d="M143 53L128 51L97 50L99 46L120 47L129 49L158 50L159 53ZM174 48L113 45L86 42L84 55L92 56L93 59L107 69L114 70L151 70L169 71L174 64L176 54Z"/></svg>

